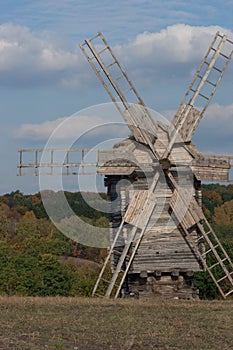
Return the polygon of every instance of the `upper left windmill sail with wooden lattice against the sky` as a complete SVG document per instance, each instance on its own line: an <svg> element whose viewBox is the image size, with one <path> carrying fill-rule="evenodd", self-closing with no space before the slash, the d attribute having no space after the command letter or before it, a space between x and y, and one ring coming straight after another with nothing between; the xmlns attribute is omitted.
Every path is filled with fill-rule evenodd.
<svg viewBox="0 0 233 350"><path fill-rule="evenodd" d="M135 139L148 145L157 157L153 147L157 124L103 34L85 40L80 48Z"/></svg>

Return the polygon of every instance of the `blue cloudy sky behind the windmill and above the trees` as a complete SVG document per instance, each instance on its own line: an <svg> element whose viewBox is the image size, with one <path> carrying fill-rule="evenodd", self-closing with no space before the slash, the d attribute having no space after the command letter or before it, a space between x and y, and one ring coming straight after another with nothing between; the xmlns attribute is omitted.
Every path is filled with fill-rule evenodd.
<svg viewBox="0 0 233 350"><path fill-rule="evenodd" d="M90 128L110 122L110 129L97 128L76 144L92 147L101 143L100 136L127 136L114 124L123 122L121 116L99 107L110 101L79 48L86 38L102 32L146 105L168 119L216 31L233 40L233 1L227 0L0 4L1 194L39 190L38 177L17 176L18 150L45 147L61 123L57 147L71 135L78 140ZM232 91L231 62L194 136L202 152L233 155ZM66 118L73 115L70 127ZM49 181L52 186L54 180ZM75 181L69 178L67 186L75 188Z"/></svg>

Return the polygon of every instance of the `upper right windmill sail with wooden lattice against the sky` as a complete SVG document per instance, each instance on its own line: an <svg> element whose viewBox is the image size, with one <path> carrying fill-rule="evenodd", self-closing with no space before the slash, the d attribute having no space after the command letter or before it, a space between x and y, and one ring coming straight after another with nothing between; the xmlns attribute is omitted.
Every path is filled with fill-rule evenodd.
<svg viewBox="0 0 233 350"><path fill-rule="evenodd" d="M177 137L190 141L233 55L233 42L216 33L172 121L166 158ZM197 106L197 108L195 108Z"/></svg>

